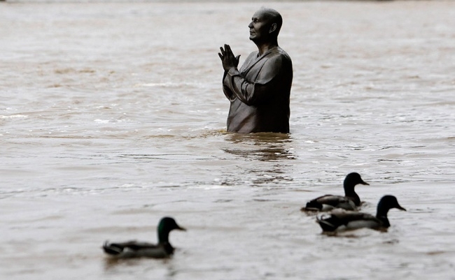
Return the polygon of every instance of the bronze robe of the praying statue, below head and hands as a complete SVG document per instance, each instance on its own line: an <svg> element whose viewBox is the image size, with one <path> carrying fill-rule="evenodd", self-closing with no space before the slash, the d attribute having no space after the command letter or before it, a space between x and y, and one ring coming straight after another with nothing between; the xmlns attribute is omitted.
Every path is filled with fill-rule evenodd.
<svg viewBox="0 0 455 280"><path fill-rule="evenodd" d="M252 52L239 71L225 71L223 92L230 100L228 131L288 133L292 81L292 61L281 47L262 56Z"/></svg>

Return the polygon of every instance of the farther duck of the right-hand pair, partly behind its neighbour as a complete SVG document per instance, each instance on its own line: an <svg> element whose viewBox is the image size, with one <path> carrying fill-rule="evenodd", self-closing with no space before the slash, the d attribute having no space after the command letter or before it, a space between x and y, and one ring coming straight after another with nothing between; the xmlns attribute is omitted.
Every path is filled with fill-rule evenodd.
<svg viewBox="0 0 455 280"><path fill-rule="evenodd" d="M307 202L301 211L330 211L335 208L342 208L345 210L356 210L360 206L360 198L358 197L354 187L358 184L370 185L365 183L356 172L349 173L344 178L344 196L325 195L314 198Z"/></svg>

